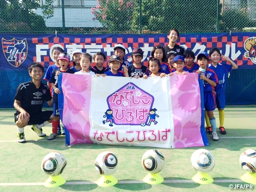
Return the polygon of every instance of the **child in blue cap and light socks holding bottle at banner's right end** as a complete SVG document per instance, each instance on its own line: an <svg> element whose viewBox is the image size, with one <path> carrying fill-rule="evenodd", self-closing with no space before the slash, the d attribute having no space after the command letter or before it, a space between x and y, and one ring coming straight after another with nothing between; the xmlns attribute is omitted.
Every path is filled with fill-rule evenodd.
<svg viewBox="0 0 256 192"><path fill-rule="evenodd" d="M206 52L200 52L197 56L197 63L199 65L199 70L196 71L200 79L204 81L204 108L212 125L212 129L206 129L207 134L212 135L212 140L219 140L218 134L216 132L216 119L214 117L213 111L215 109L215 99L213 90L218 83L218 78L213 70L209 69L208 66L209 56ZM202 72L204 70L204 72Z"/></svg>

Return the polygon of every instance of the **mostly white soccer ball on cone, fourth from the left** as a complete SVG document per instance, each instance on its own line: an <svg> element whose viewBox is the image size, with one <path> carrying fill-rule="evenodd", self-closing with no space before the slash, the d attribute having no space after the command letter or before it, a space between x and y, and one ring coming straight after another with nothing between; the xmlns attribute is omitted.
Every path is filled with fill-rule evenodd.
<svg viewBox="0 0 256 192"><path fill-rule="evenodd" d="M215 160L206 149L198 149L191 156L192 167L200 173L208 173L214 168Z"/></svg>

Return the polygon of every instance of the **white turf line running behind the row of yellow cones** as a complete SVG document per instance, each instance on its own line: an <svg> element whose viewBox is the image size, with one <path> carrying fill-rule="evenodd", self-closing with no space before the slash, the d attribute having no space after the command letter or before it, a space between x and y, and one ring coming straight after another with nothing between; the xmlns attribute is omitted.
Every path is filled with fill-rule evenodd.
<svg viewBox="0 0 256 192"><path fill-rule="evenodd" d="M242 183L240 179L224 179L224 180L214 180L213 183ZM118 184L138 184L144 183L140 180L121 180L118 181ZM163 183L194 183L192 180L164 180ZM66 182L64 185L91 185L96 184L96 182L91 181L77 181L77 182ZM0 183L0 186L35 186L35 185L44 185L44 183Z"/></svg>

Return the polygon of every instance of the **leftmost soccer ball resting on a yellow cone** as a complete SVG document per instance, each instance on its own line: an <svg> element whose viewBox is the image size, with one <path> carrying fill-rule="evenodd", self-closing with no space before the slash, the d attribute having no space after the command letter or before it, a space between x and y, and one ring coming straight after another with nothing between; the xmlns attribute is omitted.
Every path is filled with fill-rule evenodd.
<svg viewBox="0 0 256 192"><path fill-rule="evenodd" d="M67 164L66 158L64 155L58 152L52 152L47 154L42 160L42 170L48 176L58 176L62 173Z"/></svg>

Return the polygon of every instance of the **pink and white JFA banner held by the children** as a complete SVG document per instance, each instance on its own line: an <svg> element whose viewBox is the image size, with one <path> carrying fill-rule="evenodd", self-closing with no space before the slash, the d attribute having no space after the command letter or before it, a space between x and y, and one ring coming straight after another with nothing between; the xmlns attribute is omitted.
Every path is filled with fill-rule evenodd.
<svg viewBox="0 0 256 192"><path fill-rule="evenodd" d="M64 73L58 81L66 145L209 145L196 73L148 79Z"/></svg>

